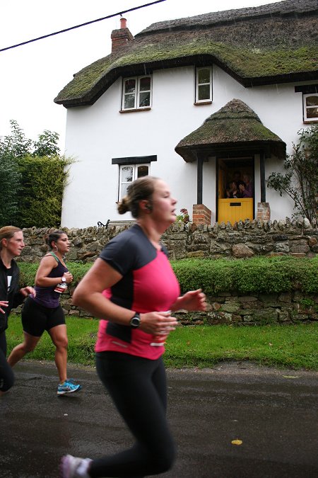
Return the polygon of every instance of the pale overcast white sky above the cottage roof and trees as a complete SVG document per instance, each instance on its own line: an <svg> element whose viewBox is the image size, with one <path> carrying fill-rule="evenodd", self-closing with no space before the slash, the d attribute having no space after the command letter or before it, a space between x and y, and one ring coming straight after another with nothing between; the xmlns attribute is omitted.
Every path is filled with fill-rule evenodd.
<svg viewBox="0 0 318 478"><path fill-rule="evenodd" d="M0 49L110 16L153 0L0 0ZM278 0L276 0L278 1ZM165 0L125 13L132 35L157 21L276 3L274 0ZM26 137L59 133L64 152L66 109L54 98L73 74L110 54L119 16L0 52L0 136L18 121ZM67 152L66 152L67 153Z"/></svg>

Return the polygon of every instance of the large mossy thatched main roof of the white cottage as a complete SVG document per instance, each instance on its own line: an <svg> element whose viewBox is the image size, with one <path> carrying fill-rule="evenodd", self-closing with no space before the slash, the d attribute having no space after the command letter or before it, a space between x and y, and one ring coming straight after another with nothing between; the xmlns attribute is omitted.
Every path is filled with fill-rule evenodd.
<svg viewBox="0 0 318 478"><path fill-rule="evenodd" d="M119 76L217 64L245 87L317 79L317 0L285 0L150 25L76 73L55 103L95 103Z"/></svg>

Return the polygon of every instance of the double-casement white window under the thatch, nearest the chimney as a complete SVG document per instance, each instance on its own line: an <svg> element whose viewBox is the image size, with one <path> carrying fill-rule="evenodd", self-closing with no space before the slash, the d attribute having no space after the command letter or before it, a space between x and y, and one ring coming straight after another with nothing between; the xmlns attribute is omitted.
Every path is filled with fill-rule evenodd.
<svg viewBox="0 0 318 478"><path fill-rule="evenodd" d="M151 108L151 76L125 78L122 89L122 110Z"/></svg>

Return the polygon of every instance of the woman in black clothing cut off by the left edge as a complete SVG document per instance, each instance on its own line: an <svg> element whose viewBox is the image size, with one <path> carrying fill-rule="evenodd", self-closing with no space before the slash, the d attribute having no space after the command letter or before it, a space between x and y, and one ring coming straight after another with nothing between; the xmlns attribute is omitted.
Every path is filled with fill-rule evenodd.
<svg viewBox="0 0 318 478"><path fill-rule="evenodd" d="M6 360L6 329L11 309L20 305L35 290L27 286L19 288L19 268L14 257L23 250L23 232L18 227L0 229L0 397L14 383L13 371Z"/></svg>

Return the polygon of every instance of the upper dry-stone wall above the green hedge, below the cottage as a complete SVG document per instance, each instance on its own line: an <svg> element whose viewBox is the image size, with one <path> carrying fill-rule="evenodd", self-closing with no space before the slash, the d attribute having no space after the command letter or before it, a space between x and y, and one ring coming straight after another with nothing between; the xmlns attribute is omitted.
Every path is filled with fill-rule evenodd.
<svg viewBox="0 0 318 478"><path fill-rule="evenodd" d="M119 223L117 223L119 224ZM129 227L124 225L63 230L71 239L66 261L92 262L112 237ZM49 229L23 229L25 248L20 261L40 261L47 251L44 236ZM163 234L171 259L189 257L248 258L252 256L313 257L318 254L318 224L308 220L281 221L245 220L231 226L224 222L204 224L172 224Z"/></svg>

